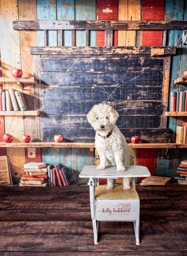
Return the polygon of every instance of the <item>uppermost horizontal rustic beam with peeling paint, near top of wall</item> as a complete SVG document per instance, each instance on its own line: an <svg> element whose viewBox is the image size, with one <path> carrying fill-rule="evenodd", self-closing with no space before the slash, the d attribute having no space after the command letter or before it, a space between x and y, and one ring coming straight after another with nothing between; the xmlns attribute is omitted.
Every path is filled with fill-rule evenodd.
<svg viewBox="0 0 187 256"><path fill-rule="evenodd" d="M13 21L15 30L183 30L186 20L133 20L133 21L101 21L101 20L38 20Z"/></svg>

